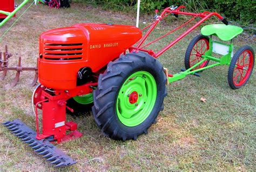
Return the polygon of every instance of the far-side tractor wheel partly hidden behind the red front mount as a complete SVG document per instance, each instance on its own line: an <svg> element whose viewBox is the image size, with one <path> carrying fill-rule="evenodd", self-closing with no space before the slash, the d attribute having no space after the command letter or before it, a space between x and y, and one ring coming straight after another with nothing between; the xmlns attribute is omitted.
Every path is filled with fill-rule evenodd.
<svg viewBox="0 0 256 172"><path fill-rule="evenodd" d="M90 113L88 112L92 110L93 106L93 95L91 93L83 96L75 96L68 99L66 103L74 111L73 113L70 112L72 116L89 115Z"/></svg>

